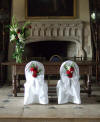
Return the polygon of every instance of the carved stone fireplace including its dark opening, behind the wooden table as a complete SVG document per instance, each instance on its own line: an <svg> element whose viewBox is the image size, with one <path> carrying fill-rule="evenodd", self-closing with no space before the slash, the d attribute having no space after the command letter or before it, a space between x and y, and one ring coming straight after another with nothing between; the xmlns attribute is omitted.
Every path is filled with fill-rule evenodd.
<svg viewBox="0 0 100 122"><path fill-rule="evenodd" d="M31 22L31 35L25 44L26 57L88 57L84 46L82 21Z"/></svg>

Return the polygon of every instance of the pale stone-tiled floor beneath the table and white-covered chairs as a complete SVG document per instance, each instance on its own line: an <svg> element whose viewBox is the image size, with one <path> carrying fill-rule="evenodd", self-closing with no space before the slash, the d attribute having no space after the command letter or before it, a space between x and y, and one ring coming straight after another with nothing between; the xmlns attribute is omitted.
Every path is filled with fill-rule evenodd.
<svg viewBox="0 0 100 122"><path fill-rule="evenodd" d="M13 97L12 87L0 88L0 122L100 122L100 87L92 96L81 94L81 105L49 103L23 105L23 93Z"/></svg>

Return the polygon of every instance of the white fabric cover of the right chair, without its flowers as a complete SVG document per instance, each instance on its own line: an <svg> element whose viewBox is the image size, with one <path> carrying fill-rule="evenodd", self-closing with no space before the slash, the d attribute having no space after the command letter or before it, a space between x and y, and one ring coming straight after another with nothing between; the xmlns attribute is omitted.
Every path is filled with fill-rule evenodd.
<svg viewBox="0 0 100 122"><path fill-rule="evenodd" d="M69 78L66 74L65 64L67 66L74 65L73 77ZM79 83L79 67L73 61L65 61L60 67L61 79L57 83L58 104L76 103L81 104L80 99L80 83Z"/></svg>

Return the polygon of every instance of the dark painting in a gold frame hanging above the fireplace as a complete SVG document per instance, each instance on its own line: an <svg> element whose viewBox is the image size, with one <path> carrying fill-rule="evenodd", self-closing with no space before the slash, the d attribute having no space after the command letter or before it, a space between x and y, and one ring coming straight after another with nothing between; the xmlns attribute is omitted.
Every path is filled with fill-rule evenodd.
<svg viewBox="0 0 100 122"><path fill-rule="evenodd" d="M26 0L26 18L75 18L76 0Z"/></svg>

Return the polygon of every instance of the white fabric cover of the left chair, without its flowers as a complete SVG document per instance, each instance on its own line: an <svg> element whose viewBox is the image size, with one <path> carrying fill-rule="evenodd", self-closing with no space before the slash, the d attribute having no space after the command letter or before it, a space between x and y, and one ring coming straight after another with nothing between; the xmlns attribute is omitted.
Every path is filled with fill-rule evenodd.
<svg viewBox="0 0 100 122"><path fill-rule="evenodd" d="M30 68L34 64L41 69L37 77L32 76ZM24 84L24 105L40 103L48 104L48 85L44 81L44 66L38 61L31 61L25 67L26 83Z"/></svg>

